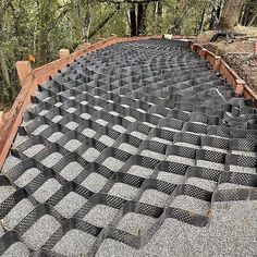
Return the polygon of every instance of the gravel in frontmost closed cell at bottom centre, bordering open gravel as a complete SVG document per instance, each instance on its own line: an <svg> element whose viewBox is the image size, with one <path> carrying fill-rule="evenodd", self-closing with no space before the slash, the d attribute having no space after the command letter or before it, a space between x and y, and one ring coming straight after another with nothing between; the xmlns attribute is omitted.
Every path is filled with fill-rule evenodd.
<svg viewBox="0 0 257 257"><path fill-rule="evenodd" d="M140 237L150 229L155 221L156 219L150 216L128 212L118 223L117 229Z"/></svg>

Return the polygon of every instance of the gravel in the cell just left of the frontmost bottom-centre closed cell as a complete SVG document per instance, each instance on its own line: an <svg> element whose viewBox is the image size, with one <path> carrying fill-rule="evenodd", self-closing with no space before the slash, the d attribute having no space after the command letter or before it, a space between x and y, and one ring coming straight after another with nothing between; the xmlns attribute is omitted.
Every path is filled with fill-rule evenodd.
<svg viewBox="0 0 257 257"><path fill-rule="evenodd" d="M96 227L106 228L111 223L118 211L118 209L110 206L96 205L83 220Z"/></svg>

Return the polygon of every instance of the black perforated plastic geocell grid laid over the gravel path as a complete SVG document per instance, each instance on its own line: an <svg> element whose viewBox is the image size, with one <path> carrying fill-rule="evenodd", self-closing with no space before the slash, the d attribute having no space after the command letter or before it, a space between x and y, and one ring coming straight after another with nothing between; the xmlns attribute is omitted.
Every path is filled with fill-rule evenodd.
<svg viewBox="0 0 257 257"><path fill-rule="evenodd" d="M20 145L14 143L11 149L11 155L21 162L9 170L3 168L0 187L11 185L15 192L0 203L0 213L4 218L24 198L35 209L15 231L5 228L0 238L1 254L15 242L22 242L24 232L44 215L54 217L61 225L40 249L28 249L32 256L61 256L52 248L72 229L95 236L87 253L83 253L95 256L107 237L134 248L144 247L167 218L197 227L208 224L208 213L170 207L179 196L210 205L256 199L256 113L253 103L234 97L230 85L191 52L186 42L166 39L121 42L79 58L38 87L24 114L17 137L28 139ZM105 144L102 136L109 137L111 145ZM77 140L77 145L68 147L72 140ZM44 148L37 151L38 145ZM93 162L86 160L90 148L98 152L90 157ZM150 151L150 156L144 156L144 150ZM42 164L51 154L61 157ZM123 163L122 167L118 170L106 167L109 157ZM77 162L83 170L68 181L61 171L71 162ZM148 169L148 175L130 174L133 166ZM38 174L20 188L15 181L29 169ZM160 180L160 172L179 180ZM99 192L82 185L93 173L106 181ZM191 178L216 186L206 191L188 184ZM45 203L38 203L33 194L51 179L61 187L50 192ZM115 183L130 185L137 194L130 200L110 195ZM219 191L222 183L238 188ZM248 188L242 189L242 185ZM160 207L140 203L148 189L166 194L166 204ZM54 207L71 192L86 203L72 217L62 217ZM96 205L118 211L105 228L83 221ZM145 233L130 234L118 229L130 212L154 217L156 221Z"/></svg>

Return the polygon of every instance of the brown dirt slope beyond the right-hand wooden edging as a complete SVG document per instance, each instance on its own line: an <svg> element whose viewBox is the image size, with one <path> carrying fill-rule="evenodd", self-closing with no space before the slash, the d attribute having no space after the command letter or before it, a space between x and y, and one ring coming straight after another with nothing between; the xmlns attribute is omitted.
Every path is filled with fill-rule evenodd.
<svg viewBox="0 0 257 257"><path fill-rule="evenodd" d="M257 53L254 52L254 42L257 41L257 27L236 26L234 32L245 34L234 40L219 39L209 42L217 33L206 32L197 37L197 42L217 56L221 56L224 61L246 82L246 84L257 93Z"/></svg>

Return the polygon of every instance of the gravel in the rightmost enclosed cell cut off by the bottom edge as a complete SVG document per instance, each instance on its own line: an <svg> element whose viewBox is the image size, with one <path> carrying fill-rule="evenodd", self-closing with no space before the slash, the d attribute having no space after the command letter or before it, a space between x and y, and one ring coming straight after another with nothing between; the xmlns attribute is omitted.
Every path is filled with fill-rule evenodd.
<svg viewBox="0 0 257 257"><path fill-rule="evenodd" d="M94 235L73 229L61 237L52 250L63 256L86 256L95 240Z"/></svg>

